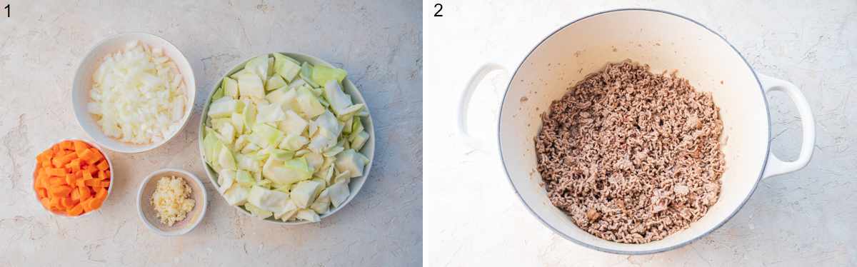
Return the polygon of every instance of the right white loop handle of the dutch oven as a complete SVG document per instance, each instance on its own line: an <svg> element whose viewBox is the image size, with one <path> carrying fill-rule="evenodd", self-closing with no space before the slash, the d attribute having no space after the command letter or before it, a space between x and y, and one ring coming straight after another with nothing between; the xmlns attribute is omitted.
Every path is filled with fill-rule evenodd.
<svg viewBox="0 0 857 267"><path fill-rule="evenodd" d="M792 99L794 106L797 107L800 114L800 126L803 130L803 141L800 144L800 155L794 161L782 161L776 157L774 153L768 155L768 163L764 166L764 174L762 177L768 178L775 175L782 175L804 168L812 158L812 150L815 146L815 120L812 118L812 110L810 110L809 102L806 101L803 93L800 92L797 86L785 81L776 79L764 74L756 74L758 80L762 83L764 92L780 91L788 94L788 98Z"/></svg>

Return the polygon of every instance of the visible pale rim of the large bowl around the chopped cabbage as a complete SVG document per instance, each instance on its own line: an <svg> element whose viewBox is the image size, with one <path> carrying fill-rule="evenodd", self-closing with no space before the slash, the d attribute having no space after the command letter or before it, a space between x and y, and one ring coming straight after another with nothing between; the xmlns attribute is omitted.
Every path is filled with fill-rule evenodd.
<svg viewBox="0 0 857 267"><path fill-rule="evenodd" d="M324 60L321 60L320 58L315 57L315 56L309 56L306 54L293 53L293 52L279 52L279 53L283 54L285 56L290 56L291 58L294 58L298 62L309 62L310 64L313 64L313 66L321 65L321 66L327 66L327 67L335 68L330 63L328 63ZM211 166L209 166L208 163L206 162L205 152L204 152L205 149L202 147L202 134L205 133L206 121L208 118L208 107L209 107L209 105L211 105L214 92L217 91L217 88L222 83L223 77L229 76L231 74L236 73L238 70L241 70L242 68L244 68L244 64L247 63L250 59L252 59L252 57L238 63L237 65L235 65L235 67L232 67L228 72L226 72L226 74L221 76L221 78L218 80L218 82L213 84L211 91L208 94L208 98L206 98L205 108L202 110L202 116L200 118L200 129L199 129L200 135L198 137L199 145L200 145L200 159L202 160L203 166L206 166L206 174L208 175L208 179L212 182L212 185L214 187L217 187L218 175L216 172L214 172L214 170L211 168ZM351 96L351 100L354 101L354 104L366 104L366 100L363 99L363 95L360 94L360 91L357 90L357 86L354 86L354 83L352 83L351 80L348 79L348 77L346 77L345 80L342 80L342 89L343 89L343 91L345 91L345 93L347 93L348 95ZM367 112L369 112L369 104L366 104L365 109ZM360 193L360 189L363 188L363 183L365 183L366 178L369 177L369 170L372 169L372 163L375 162L375 126L372 123L372 116L371 115L366 116L362 122L363 122L363 127L366 128L366 132L369 133L369 140L366 141L366 145L363 145L363 149L361 149L360 152L363 153L363 155L366 155L366 157L369 157L369 163L366 164L366 169L363 171L363 176L351 178L351 182L348 184L348 188L351 191L351 195L348 196L348 199L346 199L342 205L339 205L339 207L331 208L330 211L327 211L327 213L321 214L319 217L321 217L322 220L324 220L324 218L326 218L326 217L330 217L331 215L333 215L333 213L336 213L336 211L342 210L342 208L344 208L346 205L348 205L348 203L351 202L351 199L354 199L354 197L357 196L357 193ZM238 211L242 211L244 214L246 214L250 217L254 217L252 214L250 214L249 211L244 210L242 207L239 207L239 206L234 206L234 207L236 209L238 209ZM283 222L283 221L274 219L273 217L268 217L264 221L268 222L268 223L277 223L277 224L285 224L285 225L298 225L298 224L310 223L307 221Z"/></svg>

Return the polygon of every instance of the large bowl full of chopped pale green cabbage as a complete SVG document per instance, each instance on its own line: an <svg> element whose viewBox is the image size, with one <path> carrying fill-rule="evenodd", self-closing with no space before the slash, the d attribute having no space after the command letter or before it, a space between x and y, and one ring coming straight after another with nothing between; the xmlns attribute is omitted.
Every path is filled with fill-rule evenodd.
<svg viewBox="0 0 857 267"><path fill-rule="evenodd" d="M213 86L200 152L229 205L280 224L319 222L351 202L369 176L375 132L342 68L315 56L269 53Z"/></svg>

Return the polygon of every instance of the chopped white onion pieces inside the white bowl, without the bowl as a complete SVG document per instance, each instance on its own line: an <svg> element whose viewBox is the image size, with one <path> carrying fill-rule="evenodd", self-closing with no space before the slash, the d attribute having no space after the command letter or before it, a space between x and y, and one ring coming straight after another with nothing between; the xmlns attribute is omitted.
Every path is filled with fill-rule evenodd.
<svg viewBox="0 0 857 267"><path fill-rule="evenodd" d="M187 103L184 81L162 49L129 42L105 57L93 82L87 110L108 136L148 144L178 130Z"/></svg>

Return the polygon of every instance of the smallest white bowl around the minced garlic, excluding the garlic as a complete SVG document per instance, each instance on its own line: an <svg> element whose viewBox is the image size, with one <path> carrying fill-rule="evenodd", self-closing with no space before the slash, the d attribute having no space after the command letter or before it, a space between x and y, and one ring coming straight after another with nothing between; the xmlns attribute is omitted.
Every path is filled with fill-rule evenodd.
<svg viewBox="0 0 857 267"><path fill-rule="evenodd" d="M152 193L158 186L158 180L164 176L176 176L184 179L190 187L191 199L194 199L194 209L188 212L184 220L174 223L172 226L160 223L156 211L152 206ZM164 236L176 236L188 234L202 222L202 218L206 216L208 209L208 193L206 187L202 185L200 178L181 169L159 169L148 175L140 184L140 189L137 191L137 213L140 219L146 224L147 228L152 229L155 233Z"/></svg>

